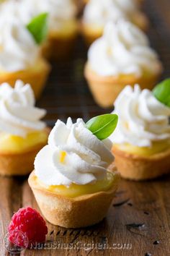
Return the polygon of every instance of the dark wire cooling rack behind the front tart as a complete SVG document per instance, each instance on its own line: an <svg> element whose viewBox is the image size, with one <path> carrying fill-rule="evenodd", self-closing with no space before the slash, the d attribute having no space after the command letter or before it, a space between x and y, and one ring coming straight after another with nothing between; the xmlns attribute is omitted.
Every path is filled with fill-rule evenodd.
<svg viewBox="0 0 170 256"><path fill-rule="evenodd" d="M146 0L143 11L148 15L151 25L148 37L151 46L156 49L165 71L163 77L170 74L170 31L164 22L158 1ZM98 114L109 113L112 108L102 109L94 102L89 88L84 80L84 64L87 48L81 37L78 38L73 54L67 61L52 63L45 91L37 105L46 108L48 114L45 121L53 126L57 119L66 121L68 116L73 120L82 117L85 121Z"/></svg>

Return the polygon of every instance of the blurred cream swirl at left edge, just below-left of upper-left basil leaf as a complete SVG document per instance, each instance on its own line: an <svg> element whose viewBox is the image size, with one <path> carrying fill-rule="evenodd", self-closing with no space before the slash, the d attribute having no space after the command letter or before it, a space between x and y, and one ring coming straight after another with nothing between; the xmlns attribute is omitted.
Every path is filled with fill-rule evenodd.
<svg viewBox="0 0 170 256"><path fill-rule="evenodd" d="M39 57L39 48L27 28L12 17L0 17L0 72L28 69Z"/></svg>

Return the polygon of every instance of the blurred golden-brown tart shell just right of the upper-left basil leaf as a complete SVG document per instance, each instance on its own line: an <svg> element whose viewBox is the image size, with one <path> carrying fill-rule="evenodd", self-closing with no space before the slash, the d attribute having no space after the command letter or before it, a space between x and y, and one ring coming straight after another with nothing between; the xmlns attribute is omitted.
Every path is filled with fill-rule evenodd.
<svg viewBox="0 0 170 256"><path fill-rule="evenodd" d="M70 56L78 35L76 20L65 22L60 30L50 31L48 40L42 46L42 55L46 59L66 59Z"/></svg>

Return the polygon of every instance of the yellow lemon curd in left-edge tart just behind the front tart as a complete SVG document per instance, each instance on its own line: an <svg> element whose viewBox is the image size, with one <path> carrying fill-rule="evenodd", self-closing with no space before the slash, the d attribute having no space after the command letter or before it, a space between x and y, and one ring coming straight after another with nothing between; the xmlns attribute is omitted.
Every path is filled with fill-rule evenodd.
<svg viewBox="0 0 170 256"><path fill-rule="evenodd" d="M29 148L38 144L45 144L48 141L48 133L45 130L31 132L26 137L9 135L2 132L0 135L0 152L2 153L23 153Z"/></svg>

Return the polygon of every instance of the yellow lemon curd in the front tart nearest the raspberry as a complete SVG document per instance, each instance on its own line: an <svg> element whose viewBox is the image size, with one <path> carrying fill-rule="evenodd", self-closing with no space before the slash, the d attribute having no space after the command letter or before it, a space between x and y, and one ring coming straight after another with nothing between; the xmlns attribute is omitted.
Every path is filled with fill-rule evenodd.
<svg viewBox="0 0 170 256"><path fill-rule="evenodd" d="M85 184L85 185L78 185L78 184L71 184L69 187L64 185L58 185L58 186L49 186L46 187L45 184L42 184L40 179L35 176L35 182L40 185L40 187L56 193L58 195L63 195L66 197L79 197L81 195L88 195L93 194L100 191L107 191L112 186L116 184L119 180L119 175L117 173L111 173L107 171L107 176L103 180L99 180L94 184Z"/></svg>

